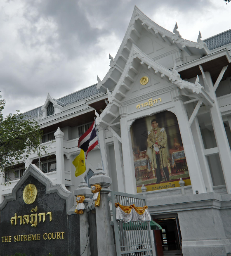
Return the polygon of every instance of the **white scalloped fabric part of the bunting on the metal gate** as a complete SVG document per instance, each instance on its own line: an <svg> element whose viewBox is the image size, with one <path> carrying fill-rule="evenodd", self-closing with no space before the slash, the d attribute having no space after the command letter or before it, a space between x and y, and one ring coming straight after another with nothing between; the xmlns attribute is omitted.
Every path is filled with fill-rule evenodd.
<svg viewBox="0 0 231 256"><path fill-rule="evenodd" d="M123 223L129 223L130 221L140 221L144 223L145 221L150 222L151 216L148 209L144 210L144 213L139 215L134 208L132 208L130 213L125 213L119 206L116 208L116 220L122 220Z"/></svg>

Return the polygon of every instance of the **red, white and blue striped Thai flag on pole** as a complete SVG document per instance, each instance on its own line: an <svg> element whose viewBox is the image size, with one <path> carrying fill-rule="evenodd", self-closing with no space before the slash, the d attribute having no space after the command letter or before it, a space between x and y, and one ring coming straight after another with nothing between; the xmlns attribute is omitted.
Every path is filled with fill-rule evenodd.
<svg viewBox="0 0 231 256"><path fill-rule="evenodd" d="M86 153L90 152L94 147L98 145L97 134L94 122L91 127L79 138L78 147Z"/></svg>

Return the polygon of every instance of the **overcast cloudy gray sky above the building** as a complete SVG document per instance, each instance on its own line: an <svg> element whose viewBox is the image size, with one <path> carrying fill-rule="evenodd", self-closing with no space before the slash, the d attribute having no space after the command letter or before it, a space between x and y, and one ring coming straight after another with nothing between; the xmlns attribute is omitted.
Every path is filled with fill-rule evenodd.
<svg viewBox="0 0 231 256"><path fill-rule="evenodd" d="M223 0L0 0L0 94L4 114L28 111L97 83L123 40L134 5L196 41L231 28Z"/></svg>

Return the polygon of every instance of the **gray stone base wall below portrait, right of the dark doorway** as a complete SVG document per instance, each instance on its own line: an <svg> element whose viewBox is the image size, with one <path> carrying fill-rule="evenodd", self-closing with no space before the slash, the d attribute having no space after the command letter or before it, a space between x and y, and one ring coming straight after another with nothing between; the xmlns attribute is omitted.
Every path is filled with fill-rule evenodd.
<svg viewBox="0 0 231 256"><path fill-rule="evenodd" d="M154 218L178 215L183 256L224 256L231 252L231 195L176 192L170 195L170 190L162 190L160 197L152 195L155 192L145 194Z"/></svg>

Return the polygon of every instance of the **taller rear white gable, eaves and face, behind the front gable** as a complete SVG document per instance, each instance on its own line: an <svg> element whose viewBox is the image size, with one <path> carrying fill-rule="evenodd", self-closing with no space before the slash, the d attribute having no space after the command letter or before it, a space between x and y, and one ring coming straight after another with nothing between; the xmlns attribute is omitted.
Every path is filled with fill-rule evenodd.
<svg viewBox="0 0 231 256"><path fill-rule="evenodd" d="M106 92L107 88L110 91L115 88L127 63L132 44L167 69L172 68L174 63L179 66L210 53L206 44L200 39L200 33L197 42L192 42L183 39L177 28L176 24L174 33L167 31L135 6L116 56L113 58L109 54L111 68L102 81L97 77L97 88L102 92Z"/></svg>

